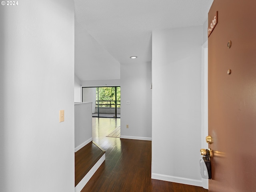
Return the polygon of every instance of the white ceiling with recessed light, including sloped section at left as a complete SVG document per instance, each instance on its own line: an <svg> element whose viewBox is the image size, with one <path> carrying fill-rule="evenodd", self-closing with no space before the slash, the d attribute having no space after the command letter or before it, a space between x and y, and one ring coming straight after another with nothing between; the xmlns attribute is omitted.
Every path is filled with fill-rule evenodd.
<svg viewBox="0 0 256 192"><path fill-rule="evenodd" d="M213 0L74 2L75 42L80 44L75 46L75 52L87 47L83 52L87 60L75 60L75 73L80 80L102 80L120 78L120 63L151 61L152 31L202 25ZM134 55L138 58L130 59ZM107 68L113 74L105 77Z"/></svg>

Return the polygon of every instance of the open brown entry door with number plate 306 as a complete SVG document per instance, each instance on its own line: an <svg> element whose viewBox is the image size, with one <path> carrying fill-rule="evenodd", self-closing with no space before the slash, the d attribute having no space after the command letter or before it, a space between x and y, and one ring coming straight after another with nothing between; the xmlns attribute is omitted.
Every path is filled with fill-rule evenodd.
<svg viewBox="0 0 256 192"><path fill-rule="evenodd" d="M208 37L209 192L256 192L256 0L214 0L209 26L217 11Z"/></svg>

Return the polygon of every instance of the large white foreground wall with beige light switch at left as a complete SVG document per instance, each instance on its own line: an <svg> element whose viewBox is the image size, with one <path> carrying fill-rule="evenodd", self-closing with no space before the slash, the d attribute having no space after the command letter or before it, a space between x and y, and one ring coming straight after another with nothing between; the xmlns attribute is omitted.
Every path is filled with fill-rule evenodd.
<svg viewBox="0 0 256 192"><path fill-rule="evenodd" d="M0 191L71 192L74 1L18 3L0 6Z"/></svg>

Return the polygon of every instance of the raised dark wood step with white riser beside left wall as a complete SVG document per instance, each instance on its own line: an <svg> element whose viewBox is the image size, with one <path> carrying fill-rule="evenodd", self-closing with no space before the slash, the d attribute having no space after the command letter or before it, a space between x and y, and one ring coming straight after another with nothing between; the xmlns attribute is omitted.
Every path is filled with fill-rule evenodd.
<svg viewBox="0 0 256 192"><path fill-rule="evenodd" d="M75 152L75 192L80 192L105 160L105 151L93 141Z"/></svg>

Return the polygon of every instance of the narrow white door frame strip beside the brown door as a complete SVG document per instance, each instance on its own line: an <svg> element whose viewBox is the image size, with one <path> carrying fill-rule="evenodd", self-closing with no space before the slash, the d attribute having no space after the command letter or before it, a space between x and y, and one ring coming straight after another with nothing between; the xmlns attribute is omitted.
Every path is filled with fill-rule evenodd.
<svg viewBox="0 0 256 192"><path fill-rule="evenodd" d="M208 136L208 40L202 45L201 73L201 148L207 149ZM202 187L208 189L208 179L202 178Z"/></svg>

